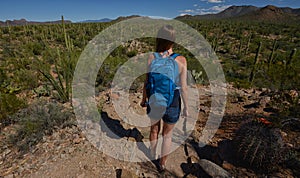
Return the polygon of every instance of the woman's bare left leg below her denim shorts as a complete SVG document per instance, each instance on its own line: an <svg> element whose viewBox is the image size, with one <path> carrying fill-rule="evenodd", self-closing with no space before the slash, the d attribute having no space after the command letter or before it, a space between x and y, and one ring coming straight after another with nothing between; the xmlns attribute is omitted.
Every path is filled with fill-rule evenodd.
<svg viewBox="0 0 300 178"><path fill-rule="evenodd" d="M151 130L150 130L151 153L150 154L151 156L153 156L153 158L155 158L159 132L160 132L160 120L151 120Z"/></svg>

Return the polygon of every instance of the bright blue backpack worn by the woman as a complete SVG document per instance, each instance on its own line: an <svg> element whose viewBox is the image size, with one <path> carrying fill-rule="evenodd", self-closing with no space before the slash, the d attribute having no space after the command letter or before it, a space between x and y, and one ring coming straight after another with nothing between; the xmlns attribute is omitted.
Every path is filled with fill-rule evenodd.
<svg viewBox="0 0 300 178"><path fill-rule="evenodd" d="M179 54L176 53L167 57L154 53L146 85L148 104L151 109L169 107L173 101L176 84L179 83L178 64L175 61L177 56Z"/></svg>

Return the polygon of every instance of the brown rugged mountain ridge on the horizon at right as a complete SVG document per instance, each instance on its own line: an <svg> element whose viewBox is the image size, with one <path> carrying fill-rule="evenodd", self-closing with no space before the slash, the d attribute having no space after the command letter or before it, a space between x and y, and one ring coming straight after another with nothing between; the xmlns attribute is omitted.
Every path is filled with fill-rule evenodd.
<svg viewBox="0 0 300 178"><path fill-rule="evenodd" d="M289 7L276 7L268 5L265 7L255 6L231 6L217 14L185 15L176 17L178 20L204 20L204 19L239 19L250 21L299 21L300 9Z"/></svg>

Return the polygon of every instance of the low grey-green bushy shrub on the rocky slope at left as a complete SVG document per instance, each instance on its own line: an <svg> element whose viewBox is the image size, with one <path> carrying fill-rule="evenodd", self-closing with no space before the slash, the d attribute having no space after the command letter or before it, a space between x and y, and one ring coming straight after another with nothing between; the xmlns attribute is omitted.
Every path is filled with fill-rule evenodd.
<svg viewBox="0 0 300 178"><path fill-rule="evenodd" d="M16 134L10 138L11 144L25 152L38 143L44 135L75 123L70 109L58 102L47 102L42 99L16 113L12 118L18 123L18 127Z"/></svg>

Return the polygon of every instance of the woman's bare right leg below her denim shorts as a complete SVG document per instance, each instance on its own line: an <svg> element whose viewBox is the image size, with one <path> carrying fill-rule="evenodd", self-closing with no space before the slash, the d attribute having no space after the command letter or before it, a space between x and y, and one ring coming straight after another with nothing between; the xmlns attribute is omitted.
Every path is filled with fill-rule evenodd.
<svg viewBox="0 0 300 178"><path fill-rule="evenodd" d="M162 151L161 151L161 159L160 164L165 165L167 161L167 156L170 153L171 146L172 146L172 133L175 124L167 124L164 123L163 125L163 143L162 143Z"/></svg>

